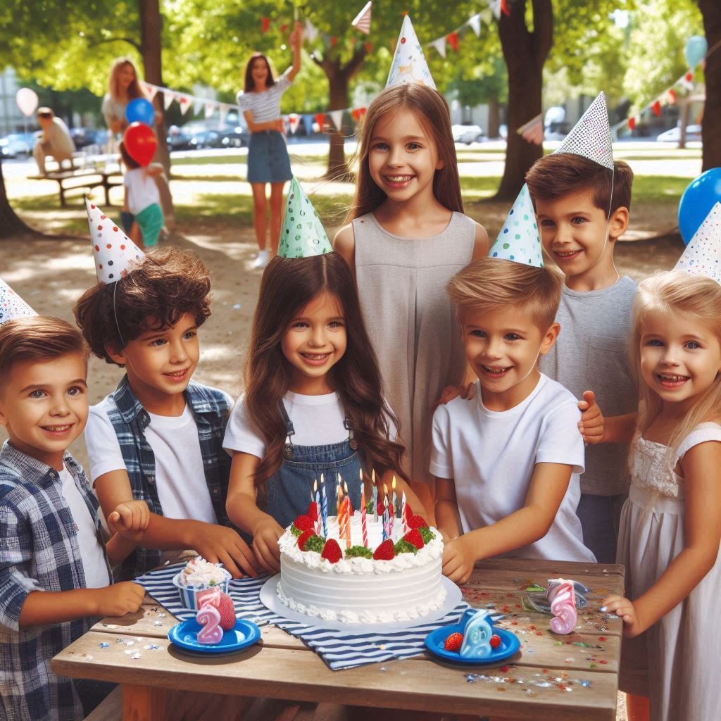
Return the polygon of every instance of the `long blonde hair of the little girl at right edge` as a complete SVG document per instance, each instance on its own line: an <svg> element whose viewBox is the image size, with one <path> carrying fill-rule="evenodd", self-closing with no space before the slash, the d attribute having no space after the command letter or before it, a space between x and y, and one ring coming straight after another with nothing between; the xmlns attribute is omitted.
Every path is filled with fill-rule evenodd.
<svg viewBox="0 0 721 721"><path fill-rule="evenodd" d="M721 286L711 278L689 275L682 270L657 273L639 283L633 303L631 333L631 366L639 386L637 433L642 435L661 412L663 403L658 394L641 378L641 336L648 314L658 311L677 314L709 329L721 343ZM721 373L686 413L668 441L665 461L671 470L676 465L676 451L691 430L704 421L717 420L721 415Z"/></svg>

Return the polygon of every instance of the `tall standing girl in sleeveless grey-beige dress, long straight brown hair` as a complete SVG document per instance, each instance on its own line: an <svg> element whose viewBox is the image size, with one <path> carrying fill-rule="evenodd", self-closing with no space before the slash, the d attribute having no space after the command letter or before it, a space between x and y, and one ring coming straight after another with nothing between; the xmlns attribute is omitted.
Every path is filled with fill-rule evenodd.
<svg viewBox="0 0 721 721"><path fill-rule="evenodd" d="M414 488L433 507L433 404L444 387L465 380L466 368L446 283L488 254L486 231L463 213L451 118L440 93L410 83L373 100L361 126L348 221L334 247L358 281L410 477L422 482ZM468 381L474 379L470 373Z"/></svg>

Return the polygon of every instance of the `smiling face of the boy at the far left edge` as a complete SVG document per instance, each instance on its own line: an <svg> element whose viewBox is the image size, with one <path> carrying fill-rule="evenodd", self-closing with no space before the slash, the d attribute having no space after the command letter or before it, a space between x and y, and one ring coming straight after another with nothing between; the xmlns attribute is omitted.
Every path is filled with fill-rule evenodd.
<svg viewBox="0 0 721 721"><path fill-rule="evenodd" d="M13 446L61 470L63 453L87 422L86 375L81 353L14 363L0 389L0 425Z"/></svg>

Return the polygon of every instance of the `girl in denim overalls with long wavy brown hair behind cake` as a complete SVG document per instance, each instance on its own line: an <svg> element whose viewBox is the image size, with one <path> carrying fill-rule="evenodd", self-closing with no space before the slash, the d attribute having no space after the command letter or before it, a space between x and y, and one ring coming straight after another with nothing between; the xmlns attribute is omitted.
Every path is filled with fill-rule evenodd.
<svg viewBox="0 0 721 721"><path fill-rule="evenodd" d="M348 265L334 252L273 258L260 283L245 394L224 441L233 454L226 508L253 536L258 563L280 570L278 539L306 512L321 474L329 509L339 474L358 508L361 470L367 479L372 469L389 490L395 474L398 497L405 492L422 512L395 436Z"/></svg>

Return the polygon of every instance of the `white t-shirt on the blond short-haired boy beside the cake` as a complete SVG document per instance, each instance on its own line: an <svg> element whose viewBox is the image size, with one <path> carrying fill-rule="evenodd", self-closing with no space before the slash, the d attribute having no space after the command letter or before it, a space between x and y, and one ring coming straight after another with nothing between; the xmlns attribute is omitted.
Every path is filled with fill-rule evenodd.
<svg viewBox="0 0 721 721"><path fill-rule="evenodd" d="M508 555L596 562L583 545L575 513L583 472L579 420L575 397L543 374L531 394L510 410L487 410L479 381L471 401L459 397L438 406L430 472L454 479L464 533L523 508L537 463L567 464L572 474L553 526L539 541Z"/></svg>

